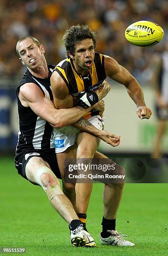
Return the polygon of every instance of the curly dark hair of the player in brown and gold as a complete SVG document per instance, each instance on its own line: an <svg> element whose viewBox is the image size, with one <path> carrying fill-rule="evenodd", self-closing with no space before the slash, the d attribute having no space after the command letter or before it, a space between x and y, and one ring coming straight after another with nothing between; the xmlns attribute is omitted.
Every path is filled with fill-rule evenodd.
<svg viewBox="0 0 168 256"><path fill-rule="evenodd" d="M70 28L67 28L63 36L63 41L64 41L66 51L67 52L70 51L71 54L74 56L74 50L75 50L76 44L86 38L91 38L93 40L94 49L95 49L96 33L91 31L89 26L78 24L77 26L71 26ZM67 53L67 57L69 58L68 53Z"/></svg>

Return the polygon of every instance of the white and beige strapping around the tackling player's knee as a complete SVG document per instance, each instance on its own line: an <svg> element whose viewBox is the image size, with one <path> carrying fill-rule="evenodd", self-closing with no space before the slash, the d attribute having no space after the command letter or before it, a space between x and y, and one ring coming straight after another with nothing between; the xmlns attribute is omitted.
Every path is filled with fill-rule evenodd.
<svg viewBox="0 0 168 256"><path fill-rule="evenodd" d="M37 172L35 173L35 182L37 184L39 184L44 189L44 191L47 194L47 197L48 197L49 201L51 202L51 200L55 196L57 196L57 195L64 195L64 193L62 192L61 187L59 185L53 185L51 187L44 187L44 185L42 184L42 181L41 181L41 176L44 173L48 173L48 174L52 175L52 177L55 177L56 179L57 179L57 177L52 172L52 170L49 169L47 166L40 167L37 170Z"/></svg>

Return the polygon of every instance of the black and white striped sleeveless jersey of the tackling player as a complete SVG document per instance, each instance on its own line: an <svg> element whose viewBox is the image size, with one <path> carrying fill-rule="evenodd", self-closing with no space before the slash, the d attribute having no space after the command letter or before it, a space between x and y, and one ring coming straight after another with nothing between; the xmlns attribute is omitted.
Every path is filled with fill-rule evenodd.
<svg viewBox="0 0 168 256"><path fill-rule="evenodd" d="M50 76L55 66L48 65ZM54 148L53 143L53 128L44 119L37 116L30 107L24 107L18 97L20 87L25 83L36 84L43 92L44 97L53 101L53 95L50 84L50 76L46 79L33 76L30 71L24 74L19 86L17 87L17 105L19 114L19 133L18 143L16 146L15 164L17 167L17 161L20 156L29 152L48 152L50 148Z"/></svg>

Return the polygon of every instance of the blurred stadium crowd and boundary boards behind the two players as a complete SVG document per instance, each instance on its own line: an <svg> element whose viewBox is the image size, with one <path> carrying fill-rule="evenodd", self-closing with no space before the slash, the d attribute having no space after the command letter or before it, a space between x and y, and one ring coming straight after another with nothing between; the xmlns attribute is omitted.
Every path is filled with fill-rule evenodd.
<svg viewBox="0 0 168 256"><path fill-rule="evenodd" d="M151 48L129 44L124 31L137 20L151 20L165 31L163 41ZM32 35L45 47L48 63L65 57L62 35L73 24L86 23L97 32L96 51L114 57L138 79L146 105L153 110L150 120L139 120L136 105L126 89L109 80L111 92L105 99L105 128L121 135L121 144L113 148L101 143L111 154L150 154L156 132L155 95L158 56L164 49L168 31L167 1L124 0L1 0L0 1L0 153L14 153L18 118L15 89L25 71L15 52L19 38ZM168 131L163 148L168 152Z"/></svg>

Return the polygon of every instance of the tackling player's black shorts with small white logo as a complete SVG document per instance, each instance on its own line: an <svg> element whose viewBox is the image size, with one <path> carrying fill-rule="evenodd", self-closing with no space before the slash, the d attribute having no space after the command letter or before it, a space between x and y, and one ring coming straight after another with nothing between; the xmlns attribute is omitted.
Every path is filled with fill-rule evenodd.
<svg viewBox="0 0 168 256"><path fill-rule="evenodd" d="M57 163L57 157L56 157L56 154L55 154L55 148L53 148L53 151L50 150L50 152L41 152L41 151L30 151L30 152L27 152L26 154L23 154L23 155L17 155L15 157L15 167L18 171L18 174L20 174L23 178L27 179L27 176L26 176L26 164L28 163L28 161L30 160L30 158L32 158L33 156L36 156L36 157L41 157L44 161L46 161L52 172L54 172L54 174L56 175L56 177L58 179L61 179L61 174L59 172L59 167L58 167L58 163ZM27 179L28 180L28 179Z"/></svg>

